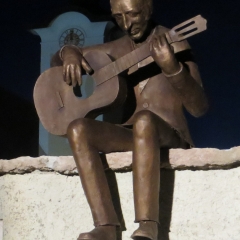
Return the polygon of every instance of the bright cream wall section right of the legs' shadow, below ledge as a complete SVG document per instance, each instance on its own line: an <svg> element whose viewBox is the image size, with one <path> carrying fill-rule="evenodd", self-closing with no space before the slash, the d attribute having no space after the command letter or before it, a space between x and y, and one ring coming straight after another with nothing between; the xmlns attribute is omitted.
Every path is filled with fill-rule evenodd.
<svg viewBox="0 0 240 240"><path fill-rule="evenodd" d="M176 173L171 240L240 239L240 168Z"/></svg>

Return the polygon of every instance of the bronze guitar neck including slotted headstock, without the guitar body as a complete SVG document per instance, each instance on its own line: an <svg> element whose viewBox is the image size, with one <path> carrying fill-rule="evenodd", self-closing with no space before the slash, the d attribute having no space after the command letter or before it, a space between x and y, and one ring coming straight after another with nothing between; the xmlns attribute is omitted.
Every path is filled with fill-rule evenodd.
<svg viewBox="0 0 240 240"><path fill-rule="evenodd" d="M174 42L183 41L190 36L193 36L199 32L207 29L206 19L202 18L200 15L191 18L174 28L166 32L166 39L169 44ZM138 64L144 59L151 56L150 43L145 43L139 48L133 50L132 52L118 58L116 61L108 64L107 66L99 69L94 73L94 76L98 79L102 79L99 84L111 79L122 73L123 71L131 68L132 66ZM104 77L102 77L104 76ZM103 79L104 78L104 79Z"/></svg>

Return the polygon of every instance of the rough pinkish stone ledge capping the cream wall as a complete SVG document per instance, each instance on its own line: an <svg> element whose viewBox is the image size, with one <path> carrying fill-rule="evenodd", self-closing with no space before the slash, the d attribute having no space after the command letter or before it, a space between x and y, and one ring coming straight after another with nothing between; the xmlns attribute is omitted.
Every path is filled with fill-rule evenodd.
<svg viewBox="0 0 240 240"><path fill-rule="evenodd" d="M132 153L120 152L106 155L109 168L124 172L131 170ZM165 169L228 169L240 166L240 146L228 150L215 148L171 149L169 160L164 160ZM25 174L35 170L54 171L64 175L76 175L77 169L72 156L19 157L0 160L0 175Z"/></svg>

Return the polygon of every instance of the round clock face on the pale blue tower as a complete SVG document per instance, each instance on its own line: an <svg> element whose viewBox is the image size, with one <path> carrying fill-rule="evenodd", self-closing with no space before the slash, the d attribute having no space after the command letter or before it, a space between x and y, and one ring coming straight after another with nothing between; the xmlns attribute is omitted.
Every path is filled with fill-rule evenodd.
<svg viewBox="0 0 240 240"><path fill-rule="evenodd" d="M82 47L84 45L85 37L81 30L78 28L70 28L64 31L59 38L59 45L75 45Z"/></svg>

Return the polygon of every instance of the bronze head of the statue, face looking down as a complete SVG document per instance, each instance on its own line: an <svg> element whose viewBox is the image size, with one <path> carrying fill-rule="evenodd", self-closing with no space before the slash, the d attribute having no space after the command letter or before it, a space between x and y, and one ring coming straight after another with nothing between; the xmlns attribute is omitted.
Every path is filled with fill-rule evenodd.
<svg viewBox="0 0 240 240"><path fill-rule="evenodd" d="M141 39L152 13L152 0L110 0L112 16L134 41Z"/></svg>

